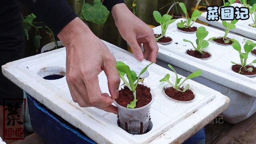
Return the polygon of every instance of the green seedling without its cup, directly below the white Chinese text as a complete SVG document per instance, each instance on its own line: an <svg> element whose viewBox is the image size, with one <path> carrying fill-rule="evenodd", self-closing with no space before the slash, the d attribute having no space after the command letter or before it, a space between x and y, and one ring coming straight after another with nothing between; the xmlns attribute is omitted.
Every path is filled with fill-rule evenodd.
<svg viewBox="0 0 256 144"><path fill-rule="evenodd" d="M218 37L218 38L222 38L225 43L230 42L230 39L227 38L227 35L230 32L230 30L233 30L233 29L236 28L235 24L236 24L237 21L238 20L232 20L231 22L226 22L226 21L223 20L222 25L225 27L225 34L224 34L224 36ZM210 40L215 40L215 39L218 39L218 38L212 37L212 38L209 38L208 40L210 41Z"/></svg>

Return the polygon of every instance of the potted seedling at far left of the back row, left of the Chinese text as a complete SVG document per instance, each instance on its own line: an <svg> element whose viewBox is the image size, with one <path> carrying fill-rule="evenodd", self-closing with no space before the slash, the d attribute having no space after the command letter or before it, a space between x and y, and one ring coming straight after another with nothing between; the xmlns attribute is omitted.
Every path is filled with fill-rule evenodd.
<svg viewBox="0 0 256 144"><path fill-rule="evenodd" d="M191 18L188 18L187 9L186 9L185 4L180 2L179 5L180 5L180 8L182 9L182 11L185 13L186 20L181 20L180 22L177 23L178 30L180 30L181 32L186 32L186 33L196 32L197 27L196 26L191 27L191 26L201 16L201 13L199 12L199 10L195 10L192 13Z"/></svg>

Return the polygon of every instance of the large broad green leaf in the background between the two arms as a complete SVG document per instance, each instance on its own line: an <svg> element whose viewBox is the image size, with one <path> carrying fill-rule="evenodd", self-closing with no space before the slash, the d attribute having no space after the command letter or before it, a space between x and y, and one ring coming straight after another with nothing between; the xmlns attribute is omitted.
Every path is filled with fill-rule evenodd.
<svg viewBox="0 0 256 144"><path fill-rule="evenodd" d="M82 6L82 14L85 20L103 26L108 18L109 11L100 0L94 0L94 5L86 3Z"/></svg>

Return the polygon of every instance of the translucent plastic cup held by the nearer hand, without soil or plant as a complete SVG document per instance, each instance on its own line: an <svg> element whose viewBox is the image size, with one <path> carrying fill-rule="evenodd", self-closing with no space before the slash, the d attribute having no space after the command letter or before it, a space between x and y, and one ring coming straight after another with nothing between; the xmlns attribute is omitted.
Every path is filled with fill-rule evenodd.
<svg viewBox="0 0 256 144"><path fill-rule="evenodd" d="M141 108L126 108L114 100L118 109L118 124L120 128L130 134L144 134L148 130L150 121L150 108L154 101L155 95L150 89L152 100L146 106Z"/></svg>

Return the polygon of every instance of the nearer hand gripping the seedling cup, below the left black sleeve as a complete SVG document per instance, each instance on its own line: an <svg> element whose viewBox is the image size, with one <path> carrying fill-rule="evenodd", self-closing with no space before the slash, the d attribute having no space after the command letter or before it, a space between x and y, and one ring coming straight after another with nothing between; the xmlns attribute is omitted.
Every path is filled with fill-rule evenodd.
<svg viewBox="0 0 256 144"><path fill-rule="evenodd" d="M66 46L66 80L72 99L81 107L96 107L118 114L112 98L118 98L120 78L116 59L106 45L80 20L75 18L58 34ZM101 94L98 74L104 70L112 98Z"/></svg>

